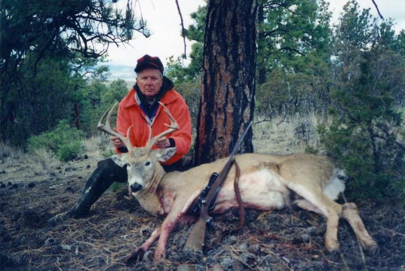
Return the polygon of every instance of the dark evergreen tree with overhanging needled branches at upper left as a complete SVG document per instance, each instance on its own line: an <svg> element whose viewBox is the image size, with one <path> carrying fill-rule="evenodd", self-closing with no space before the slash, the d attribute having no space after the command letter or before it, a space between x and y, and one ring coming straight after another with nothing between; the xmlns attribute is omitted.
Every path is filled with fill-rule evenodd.
<svg viewBox="0 0 405 271"><path fill-rule="evenodd" d="M40 132L53 124L52 121L28 127L26 114L46 106L52 107L52 100L73 95L77 86L70 87L63 80L69 77L63 67L80 54L86 58L98 58L106 52L111 43L128 41L133 31L148 36L142 20L134 18L130 1L125 12L114 8L117 1L29 1L4 0L0 6L0 132L3 141L22 145L30 132ZM98 47L96 47L98 44ZM56 63L55 61L59 61ZM52 62L52 63L51 63ZM46 66L55 65L56 71ZM76 66L78 68L78 66ZM79 68L80 69L80 68ZM47 75L47 71L49 74ZM60 71L64 74L55 75ZM39 73L41 78L34 79ZM50 82L52 76L61 82ZM33 80L33 83L30 80ZM44 82L45 81L45 82ZM36 83L36 82L41 82ZM81 84L81 83L80 83ZM50 85L54 85L50 87ZM63 85L63 87L62 87ZM44 86L44 87L43 87ZM59 87L61 89L59 90ZM52 92L58 89L56 92ZM32 92L30 92L32 91ZM54 97L57 93L58 97ZM49 95L49 97L48 97ZM28 97L33 99L26 100ZM42 100L40 100L42 99ZM69 107L69 99L64 99ZM46 102L50 104L46 104ZM27 112L27 105L31 104ZM58 103L54 103L61 106ZM69 114L65 106L61 114ZM41 112L38 112L41 113ZM48 112L50 113L50 112ZM49 115L49 118L58 118ZM44 127L45 128L45 127Z"/></svg>

